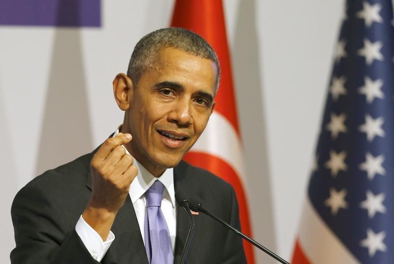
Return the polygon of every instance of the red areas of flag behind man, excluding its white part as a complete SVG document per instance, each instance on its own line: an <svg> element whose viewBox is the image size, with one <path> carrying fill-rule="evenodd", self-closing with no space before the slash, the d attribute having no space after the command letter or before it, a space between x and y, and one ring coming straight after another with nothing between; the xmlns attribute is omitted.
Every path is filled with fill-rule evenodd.
<svg viewBox="0 0 394 264"><path fill-rule="evenodd" d="M171 26L185 28L201 35L216 51L221 67L221 81L215 97L215 111L226 118L240 138L222 0L175 1ZM239 204L242 231L251 235L245 193L239 175L232 167L209 154L191 152L184 159L211 171L234 187ZM252 245L244 241L244 248L248 263L254 264Z"/></svg>

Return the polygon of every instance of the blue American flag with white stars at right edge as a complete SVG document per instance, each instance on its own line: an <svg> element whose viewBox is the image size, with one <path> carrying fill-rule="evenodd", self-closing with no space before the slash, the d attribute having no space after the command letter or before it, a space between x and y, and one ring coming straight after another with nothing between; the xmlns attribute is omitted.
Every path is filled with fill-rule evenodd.
<svg viewBox="0 0 394 264"><path fill-rule="evenodd" d="M392 0L348 0L293 263L394 263Z"/></svg>

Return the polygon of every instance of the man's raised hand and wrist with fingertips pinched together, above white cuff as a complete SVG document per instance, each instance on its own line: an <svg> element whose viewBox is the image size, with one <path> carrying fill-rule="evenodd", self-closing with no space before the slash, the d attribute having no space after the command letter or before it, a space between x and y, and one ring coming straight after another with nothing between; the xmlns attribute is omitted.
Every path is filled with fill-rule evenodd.
<svg viewBox="0 0 394 264"><path fill-rule="evenodd" d="M108 138L91 161L92 195L82 217L104 241L138 173L133 157L122 146L130 141L131 134Z"/></svg>

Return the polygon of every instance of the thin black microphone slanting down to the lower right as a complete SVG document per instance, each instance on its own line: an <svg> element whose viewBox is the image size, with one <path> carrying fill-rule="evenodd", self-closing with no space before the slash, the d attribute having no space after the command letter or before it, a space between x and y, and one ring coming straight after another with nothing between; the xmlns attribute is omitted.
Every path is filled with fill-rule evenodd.
<svg viewBox="0 0 394 264"><path fill-rule="evenodd" d="M250 238L249 236L245 235L244 233L242 233L241 231L231 227L229 224L227 224L225 221L223 221L222 219L220 219L219 217L214 216L213 214L211 214L207 209L204 208L204 206L195 198L189 198L189 206L190 208L195 211L195 212L202 212L210 217L212 217L213 219L215 219L216 221L218 221L219 223L221 223L222 225L226 226L227 228L229 228L231 231L235 232L237 235L239 235L240 237L242 237L243 239L247 240L248 242L252 243L254 246L256 246L257 248L259 248L260 250L263 250L266 254L268 254L269 256L271 256L272 258L274 258L275 260L279 261L282 264L290 264L287 261L285 261L284 259L282 259L281 257L279 257L278 255L276 255L275 253L273 253L272 251L270 251L269 249L267 249L266 247L264 247L263 245L259 244L257 241L253 240L252 238Z"/></svg>

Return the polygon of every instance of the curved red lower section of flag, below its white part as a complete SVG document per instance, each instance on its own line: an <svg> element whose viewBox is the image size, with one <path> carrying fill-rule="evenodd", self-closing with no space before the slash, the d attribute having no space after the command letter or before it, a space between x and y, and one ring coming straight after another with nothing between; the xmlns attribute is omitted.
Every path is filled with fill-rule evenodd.
<svg viewBox="0 0 394 264"><path fill-rule="evenodd" d="M241 222L241 230L246 235L251 236L252 231L249 224L249 211L246 202L245 192L243 190L242 183L240 182L237 174L232 169L232 167L218 157L206 153L191 151L188 152L183 159L195 166L208 169L212 173L218 175L220 178L231 184L231 186L235 190L239 204L239 218ZM248 264L254 264L255 257L253 253L253 246L246 240L243 241L243 246L245 249L245 255Z"/></svg>

